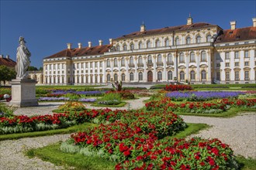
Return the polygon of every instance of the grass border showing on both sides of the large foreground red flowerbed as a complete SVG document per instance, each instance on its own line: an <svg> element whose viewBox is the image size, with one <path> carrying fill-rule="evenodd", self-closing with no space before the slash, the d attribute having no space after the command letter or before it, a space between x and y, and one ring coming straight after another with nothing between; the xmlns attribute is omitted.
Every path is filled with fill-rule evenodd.
<svg viewBox="0 0 256 170"><path fill-rule="evenodd" d="M173 138L185 138L190 134L198 133L200 130L209 128L207 124L188 124L185 131L181 131ZM75 169L114 169L116 163L106 159L79 154L64 153L60 150L61 144L48 145L43 148L30 149L26 151L29 158L38 157L43 161L51 162L54 165L62 165L65 168Z"/></svg>

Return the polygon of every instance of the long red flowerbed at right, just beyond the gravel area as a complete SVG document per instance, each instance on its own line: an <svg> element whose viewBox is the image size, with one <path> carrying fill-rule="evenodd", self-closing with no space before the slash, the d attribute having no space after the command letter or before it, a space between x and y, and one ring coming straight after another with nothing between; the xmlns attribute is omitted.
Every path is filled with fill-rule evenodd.
<svg viewBox="0 0 256 170"><path fill-rule="evenodd" d="M145 104L147 110L168 110L180 113L216 114L228 110L230 107L255 108L256 99L221 99L209 102L185 102L175 104L168 97L150 101Z"/></svg>

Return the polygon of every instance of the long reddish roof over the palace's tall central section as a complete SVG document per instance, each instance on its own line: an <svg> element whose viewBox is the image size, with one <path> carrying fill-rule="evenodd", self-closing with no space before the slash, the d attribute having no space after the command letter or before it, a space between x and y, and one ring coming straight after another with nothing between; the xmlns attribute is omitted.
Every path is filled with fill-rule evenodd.
<svg viewBox="0 0 256 170"><path fill-rule="evenodd" d="M198 22L198 23L193 23L192 25L182 25L182 26L167 26L162 29L150 29L146 30L144 32L132 32L130 34L120 36L116 39L125 39L125 38L133 38L137 36L149 36L149 35L155 35L155 34L161 34L161 33L168 33L168 32L174 32L174 31L185 31L189 29L202 29L202 28L207 28L209 26L216 26L212 25L206 22Z"/></svg>

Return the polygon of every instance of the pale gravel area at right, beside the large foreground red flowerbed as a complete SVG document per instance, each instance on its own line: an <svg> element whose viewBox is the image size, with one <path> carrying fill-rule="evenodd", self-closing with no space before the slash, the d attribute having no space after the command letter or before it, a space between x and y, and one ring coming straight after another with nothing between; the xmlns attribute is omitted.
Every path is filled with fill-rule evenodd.
<svg viewBox="0 0 256 170"><path fill-rule="evenodd" d="M230 145L235 155L256 158L256 113L243 113L236 117L194 117L182 116L187 123L212 125L211 128L192 134L188 138L219 138Z"/></svg>

